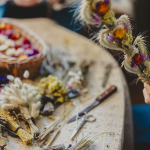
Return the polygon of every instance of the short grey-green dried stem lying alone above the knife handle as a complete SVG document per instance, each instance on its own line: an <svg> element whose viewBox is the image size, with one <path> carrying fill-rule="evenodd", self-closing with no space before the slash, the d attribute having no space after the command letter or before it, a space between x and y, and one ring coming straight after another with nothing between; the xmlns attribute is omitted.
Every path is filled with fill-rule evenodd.
<svg viewBox="0 0 150 150"><path fill-rule="evenodd" d="M109 75L110 75L110 72L112 70L112 65L111 64L108 64L106 66L106 71L105 71L105 75L104 75L104 78L103 78L103 83L102 83L102 87L104 88L108 82L108 78L109 78Z"/></svg>

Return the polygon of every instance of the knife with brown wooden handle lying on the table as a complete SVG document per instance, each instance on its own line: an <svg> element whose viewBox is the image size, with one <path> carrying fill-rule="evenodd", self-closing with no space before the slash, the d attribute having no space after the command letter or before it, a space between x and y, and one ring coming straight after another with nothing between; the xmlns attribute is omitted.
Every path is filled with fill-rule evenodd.
<svg viewBox="0 0 150 150"><path fill-rule="evenodd" d="M83 111L78 113L79 117L82 117L85 115L85 113L89 112L90 110L92 110L94 107L96 107L97 105L99 105L101 102L103 102L105 99L107 99L109 96L111 96L113 93L115 93L117 91L117 87L116 86L111 86L108 90L106 90L103 94L101 94L100 96L98 96L96 98L96 100L94 101L93 104L91 104L89 107L87 107L86 109L84 109ZM76 120L77 116L74 116L73 118L71 118L68 123L71 123L73 121Z"/></svg>

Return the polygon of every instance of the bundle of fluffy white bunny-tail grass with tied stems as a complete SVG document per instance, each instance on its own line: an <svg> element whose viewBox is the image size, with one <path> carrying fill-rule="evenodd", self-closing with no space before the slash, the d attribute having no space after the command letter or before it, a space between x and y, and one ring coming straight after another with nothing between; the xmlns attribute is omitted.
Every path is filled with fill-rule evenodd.
<svg viewBox="0 0 150 150"><path fill-rule="evenodd" d="M24 77L28 77L28 71ZM9 84L4 86L0 93L0 104L5 110L19 109L22 118L29 124L32 135L36 137L39 129L35 126L34 119L39 115L41 107L41 94L37 93L33 85L22 83L19 78L7 76Z"/></svg>

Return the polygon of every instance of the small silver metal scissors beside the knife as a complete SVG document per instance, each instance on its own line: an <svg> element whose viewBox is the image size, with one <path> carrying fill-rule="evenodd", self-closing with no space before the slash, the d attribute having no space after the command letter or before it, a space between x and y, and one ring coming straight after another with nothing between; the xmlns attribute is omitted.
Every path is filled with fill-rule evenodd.
<svg viewBox="0 0 150 150"><path fill-rule="evenodd" d="M80 128L83 126L83 124L85 122L94 122L96 121L96 118L93 115L85 115L85 117L82 117L82 120L80 122L80 124L77 126L77 128L74 130L74 132L72 133L70 139L73 140L74 137L76 136L76 134L78 133L78 131L80 130Z"/></svg>

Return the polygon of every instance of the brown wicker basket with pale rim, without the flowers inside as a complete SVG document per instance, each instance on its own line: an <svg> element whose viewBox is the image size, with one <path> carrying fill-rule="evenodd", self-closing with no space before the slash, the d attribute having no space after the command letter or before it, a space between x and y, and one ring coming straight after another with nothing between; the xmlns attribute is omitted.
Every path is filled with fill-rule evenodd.
<svg viewBox="0 0 150 150"><path fill-rule="evenodd" d="M16 31L20 32L23 36L31 41L31 43L37 47L40 52L37 55L30 56L27 59L9 57L4 54L0 54L0 68L5 70L7 74L12 74L15 77L23 78L25 70L30 72L30 79L36 78L40 74L40 68L42 61L47 53L47 46L44 41L37 36L34 32L26 27L16 23L13 19L3 18L0 22L12 24Z"/></svg>

